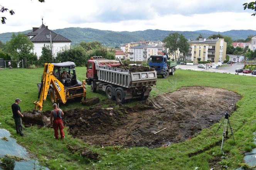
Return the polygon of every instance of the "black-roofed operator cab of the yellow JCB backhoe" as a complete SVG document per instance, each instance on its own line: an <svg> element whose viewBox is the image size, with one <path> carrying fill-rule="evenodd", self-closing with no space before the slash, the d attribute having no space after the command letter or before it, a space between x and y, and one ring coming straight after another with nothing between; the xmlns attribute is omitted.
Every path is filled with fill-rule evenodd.
<svg viewBox="0 0 256 170"><path fill-rule="evenodd" d="M53 63L53 72L55 77L62 82L65 87L71 88L76 86L81 86L82 83L76 78L76 65L74 62L63 62L63 63ZM69 75L66 79L62 77L62 74L67 73Z"/></svg>

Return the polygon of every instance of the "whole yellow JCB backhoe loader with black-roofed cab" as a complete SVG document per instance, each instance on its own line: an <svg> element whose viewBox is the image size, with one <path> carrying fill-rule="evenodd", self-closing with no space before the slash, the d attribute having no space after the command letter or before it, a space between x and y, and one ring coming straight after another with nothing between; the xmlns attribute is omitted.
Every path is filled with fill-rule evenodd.
<svg viewBox="0 0 256 170"><path fill-rule="evenodd" d="M86 99L85 80L80 82L76 78L76 65L74 62L45 63L41 83L37 84L38 99L34 102L35 110L42 110L43 102L47 95L52 103L66 103L68 99L74 98L80 101ZM64 78L62 73L69 76Z"/></svg>

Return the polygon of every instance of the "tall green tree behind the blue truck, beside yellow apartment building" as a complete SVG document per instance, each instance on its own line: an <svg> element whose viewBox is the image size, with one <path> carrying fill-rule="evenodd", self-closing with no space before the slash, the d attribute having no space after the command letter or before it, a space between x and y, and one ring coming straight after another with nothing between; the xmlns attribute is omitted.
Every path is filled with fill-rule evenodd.
<svg viewBox="0 0 256 170"><path fill-rule="evenodd" d="M171 33L167 37L163 39L163 43L165 43L164 47L169 48L168 54L174 53L176 60L176 50L179 50L180 53L189 52L189 43L184 35L179 33ZM180 53L178 56L178 61L180 60Z"/></svg>

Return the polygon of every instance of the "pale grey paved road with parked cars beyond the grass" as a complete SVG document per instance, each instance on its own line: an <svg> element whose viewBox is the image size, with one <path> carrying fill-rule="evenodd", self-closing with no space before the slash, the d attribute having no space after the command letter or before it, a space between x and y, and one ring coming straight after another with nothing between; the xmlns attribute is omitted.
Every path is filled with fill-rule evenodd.
<svg viewBox="0 0 256 170"><path fill-rule="evenodd" d="M237 68L243 68L243 64L233 64L228 65L227 67L221 67L221 68L210 68L209 70L205 70L203 68L197 68L197 65L177 65L176 68L181 68L184 70L196 70L196 71L206 71L206 72L218 72L218 73L231 73L231 74L235 74L235 70ZM236 73L237 74L237 73ZM256 77L256 75L252 75L251 73L248 74L244 74L244 73L239 73L239 75L247 75L247 76L254 76Z"/></svg>

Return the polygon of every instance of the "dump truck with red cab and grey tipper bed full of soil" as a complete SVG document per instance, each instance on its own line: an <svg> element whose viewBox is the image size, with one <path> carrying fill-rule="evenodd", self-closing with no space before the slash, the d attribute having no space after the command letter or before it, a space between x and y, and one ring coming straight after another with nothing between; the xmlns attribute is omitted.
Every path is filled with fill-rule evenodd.
<svg viewBox="0 0 256 170"><path fill-rule="evenodd" d="M131 98L146 100L157 82L157 72L154 69L148 72L130 72L118 68L122 65L120 60L88 60L86 83L91 85L91 91L103 91L108 99L116 99L118 103L127 103Z"/></svg>

